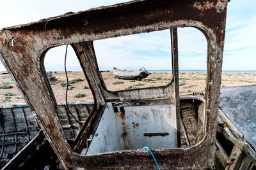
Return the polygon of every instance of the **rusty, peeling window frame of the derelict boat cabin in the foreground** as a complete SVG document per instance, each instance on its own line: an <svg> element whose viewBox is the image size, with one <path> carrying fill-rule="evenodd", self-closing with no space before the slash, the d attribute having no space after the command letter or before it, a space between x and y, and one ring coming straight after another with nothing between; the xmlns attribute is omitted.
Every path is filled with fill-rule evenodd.
<svg viewBox="0 0 256 170"><path fill-rule="evenodd" d="M0 58L65 169L152 169L156 167L155 162L150 153L141 148L128 147L92 155L81 153L88 138L95 138L104 112L111 107L116 114L125 117L128 106L168 106L168 113L174 114L180 122L177 28L199 29L208 44L200 140L184 148L156 148L152 152L163 169L213 169L227 2L136 0L8 27L0 31ZM171 32L171 83L164 87L118 92L106 90L93 41L163 29ZM95 99L93 110L71 143L61 127L60 109L44 68L45 53L60 45L74 48ZM182 124L177 125L177 134L182 133L179 130L182 127Z"/></svg>

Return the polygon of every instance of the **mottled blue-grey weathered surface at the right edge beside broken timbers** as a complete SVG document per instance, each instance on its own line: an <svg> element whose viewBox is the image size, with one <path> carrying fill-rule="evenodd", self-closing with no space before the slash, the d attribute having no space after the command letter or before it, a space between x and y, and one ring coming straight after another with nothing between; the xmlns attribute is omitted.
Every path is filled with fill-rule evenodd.
<svg viewBox="0 0 256 170"><path fill-rule="evenodd" d="M220 109L256 148L256 85L221 89Z"/></svg>

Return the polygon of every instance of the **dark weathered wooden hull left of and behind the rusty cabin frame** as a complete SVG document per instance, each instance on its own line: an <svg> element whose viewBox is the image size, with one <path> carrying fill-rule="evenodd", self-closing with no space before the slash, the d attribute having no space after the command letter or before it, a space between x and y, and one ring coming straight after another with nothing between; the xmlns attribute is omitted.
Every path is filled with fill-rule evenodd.
<svg viewBox="0 0 256 170"><path fill-rule="evenodd" d="M93 103L69 104L74 116L86 121ZM58 118L67 141L76 138L81 125L59 105ZM2 169L61 169L61 164L47 142L33 112L26 104L6 105L0 108L0 168ZM44 161L42 161L44 160ZM63 169L63 167L62 167Z"/></svg>

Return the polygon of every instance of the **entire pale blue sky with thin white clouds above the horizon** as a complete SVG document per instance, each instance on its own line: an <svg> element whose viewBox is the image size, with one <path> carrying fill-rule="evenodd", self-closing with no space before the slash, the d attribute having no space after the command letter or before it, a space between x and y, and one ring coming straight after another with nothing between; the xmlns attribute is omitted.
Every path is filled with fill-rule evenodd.
<svg viewBox="0 0 256 170"><path fill-rule="evenodd" d="M0 29L27 24L124 0L76 1L0 0ZM223 70L256 70L256 3L255 0L231 0L228 3ZM179 69L206 69L207 42L195 28L178 29ZM100 70L172 69L170 30L93 41ZM45 55L47 71L64 71L65 46L51 48ZM68 46L68 71L81 71L74 50ZM0 64L0 71L4 71Z"/></svg>

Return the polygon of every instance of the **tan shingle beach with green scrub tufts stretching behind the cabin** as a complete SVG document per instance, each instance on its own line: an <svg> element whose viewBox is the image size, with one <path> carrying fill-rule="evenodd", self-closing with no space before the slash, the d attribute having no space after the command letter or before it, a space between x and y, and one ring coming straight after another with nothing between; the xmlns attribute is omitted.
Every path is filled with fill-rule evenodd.
<svg viewBox="0 0 256 170"><path fill-rule="evenodd" d="M65 73L53 73L58 81L51 82L51 87L56 97L56 101L61 104L65 103L66 87L61 87L61 83L66 81ZM102 77L106 83L107 89L111 91L136 89L145 87L158 87L167 85L172 80L172 73L152 73L147 79L142 81L120 80L113 77L113 73L102 73ZM68 73L68 79L74 80L77 78L83 79L77 83L70 84L74 87L68 90L68 103L84 103L93 102L93 96L83 73ZM191 94L193 92L200 92L205 89L206 74L202 72L180 72L180 95ZM117 83L119 81L119 83ZM121 83L120 83L121 81ZM0 74L0 84L8 84L13 86L12 89L0 89L0 105L24 103L19 90L15 87L13 80L8 74ZM223 73L221 78L221 87L237 86L237 85L252 85L256 84L256 73ZM8 92L13 96L4 96ZM85 97L74 98L76 94L85 94Z"/></svg>

